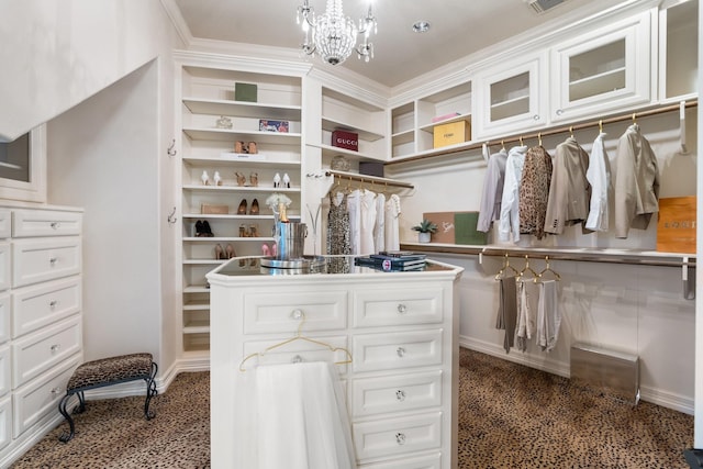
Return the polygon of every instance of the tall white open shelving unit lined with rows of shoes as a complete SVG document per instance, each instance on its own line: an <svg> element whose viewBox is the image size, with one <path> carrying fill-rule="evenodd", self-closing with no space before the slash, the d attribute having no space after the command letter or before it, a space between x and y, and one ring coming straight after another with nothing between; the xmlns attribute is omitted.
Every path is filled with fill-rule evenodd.
<svg viewBox="0 0 703 469"><path fill-rule="evenodd" d="M286 194L289 216L300 216L302 78L241 71L208 54L176 57L182 349L197 357L210 348L205 275L272 245L271 194Z"/></svg>

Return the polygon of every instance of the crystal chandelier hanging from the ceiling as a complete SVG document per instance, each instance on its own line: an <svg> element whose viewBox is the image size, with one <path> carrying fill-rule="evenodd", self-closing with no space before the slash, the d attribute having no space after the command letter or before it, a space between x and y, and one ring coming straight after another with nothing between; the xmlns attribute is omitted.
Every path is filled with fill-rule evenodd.
<svg viewBox="0 0 703 469"><path fill-rule="evenodd" d="M327 0L323 14L315 14L309 0L303 0L303 4L298 7L298 24L301 22L305 33L305 42L301 48L308 55L317 53L331 65L342 64L354 51L366 62L373 57L373 44L369 42L369 37L371 30L376 34L377 24L371 4L357 26L349 16L344 15L342 0ZM361 36L361 42L357 46L358 35Z"/></svg>

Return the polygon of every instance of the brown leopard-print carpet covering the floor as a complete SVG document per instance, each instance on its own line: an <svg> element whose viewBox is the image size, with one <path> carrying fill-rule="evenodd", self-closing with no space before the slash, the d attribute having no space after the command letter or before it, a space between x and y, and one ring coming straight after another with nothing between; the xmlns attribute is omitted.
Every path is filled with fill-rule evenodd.
<svg viewBox="0 0 703 469"><path fill-rule="evenodd" d="M459 373L460 469L688 467L691 415L464 348ZM142 397L88 401L71 442L62 424L12 468L209 468L209 373L192 372L152 401L150 422Z"/></svg>

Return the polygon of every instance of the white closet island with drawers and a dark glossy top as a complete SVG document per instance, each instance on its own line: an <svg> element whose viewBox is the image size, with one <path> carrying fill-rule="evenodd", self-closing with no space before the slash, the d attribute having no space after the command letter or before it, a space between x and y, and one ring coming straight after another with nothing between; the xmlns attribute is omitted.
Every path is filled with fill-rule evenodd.
<svg viewBox="0 0 703 469"><path fill-rule="evenodd" d="M358 468L456 468L464 269L428 260L386 272L323 257L314 272L291 275L260 259L233 258L207 276L212 467L237 467L245 373L325 360L337 364Z"/></svg>

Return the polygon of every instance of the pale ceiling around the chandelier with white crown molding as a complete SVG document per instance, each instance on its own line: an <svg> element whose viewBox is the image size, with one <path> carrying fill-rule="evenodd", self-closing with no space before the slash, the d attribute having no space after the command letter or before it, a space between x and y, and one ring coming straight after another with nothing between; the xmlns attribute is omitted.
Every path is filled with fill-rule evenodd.
<svg viewBox="0 0 703 469"><path fill-rule="evenodd" d="M551 0L540 0L555 3ZM388 87L394 87L473 52L538 27L556 27L603 9L633 0L566 0L537 13L526 0L375 0L378 34L375 58L369 63L349 57L345 67ZM361 18L369 0L347 0L345 14ZM297 48L302 32L295 24L295 8L302 0L171 0L183 19L187 35L272 47ZM316 12L324 0L310 0ZM428 21L426 33L414 33L412 24ZM545 30L546 31L546 30ZM289 51L292 52L292 51ZM298 55L295 55L297 57ZM321 67L319 57L301 57Z"/></svg>

